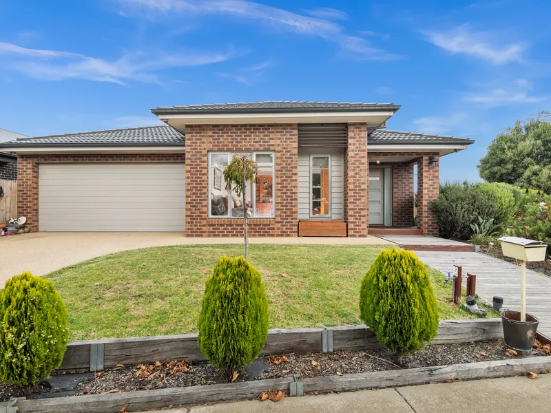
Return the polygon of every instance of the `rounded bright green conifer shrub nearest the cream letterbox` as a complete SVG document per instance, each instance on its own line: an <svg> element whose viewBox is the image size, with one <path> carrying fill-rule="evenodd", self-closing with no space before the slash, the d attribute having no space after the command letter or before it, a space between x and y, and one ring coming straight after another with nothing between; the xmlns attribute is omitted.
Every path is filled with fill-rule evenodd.
<svg viewBox="0 0 551 413"><path fill-rule="evenodd" d="M362 281L360 317L380 343L399 357L423 347L438 329L433 286L414 253L386 249Z"/></svg>

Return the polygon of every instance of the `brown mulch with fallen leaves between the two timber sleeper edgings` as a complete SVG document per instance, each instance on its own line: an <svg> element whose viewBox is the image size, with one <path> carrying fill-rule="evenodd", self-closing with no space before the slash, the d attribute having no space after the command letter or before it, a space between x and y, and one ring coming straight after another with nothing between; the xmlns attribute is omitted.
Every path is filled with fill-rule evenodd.
<svg viewBox="0 0 551 413"><path fill-rule="evenodd" d="M533 356L551 353L551 348L539 347ZM406 357L406 365L397 366L395 356L388 350L342 351L334 353L282 354L279 356L259 357L246 370L240 371L235 381L264 380L289 377L300 374L301 377L334 376L400 368L419 368L443 366L447 364L476 363L514 358L508 352L502 340L480 341L477 343L443 344L425 346L419 352ZM72 376L72 374L68 374ZM227 383L225 374L208 363L190 361L156 361L155 363L116 368L93 374L75 377L72 395L105 394L114 392L132 392L160 388L181 388L194 385ZM54 376L55 381L59 376ZM39 386L31 397L48 396L50 389ZM10 397L22 396L23 392L15 385L0 383L0 401ZM50 396L55 396L51 394ZM61 395L61 394L60 394ZM69 395L65 392L63 395Z"/></svg>

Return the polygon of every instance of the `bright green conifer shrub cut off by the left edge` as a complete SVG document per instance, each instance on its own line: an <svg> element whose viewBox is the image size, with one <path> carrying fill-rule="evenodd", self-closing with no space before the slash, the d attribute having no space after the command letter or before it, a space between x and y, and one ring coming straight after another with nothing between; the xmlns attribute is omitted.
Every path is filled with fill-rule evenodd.
<svg viewBox="0 0 551 413"><path fill-rule="evenodd" d="M61 365L67 312L54 284L31 273L0 290L0 380L30 389Z"/></svg>

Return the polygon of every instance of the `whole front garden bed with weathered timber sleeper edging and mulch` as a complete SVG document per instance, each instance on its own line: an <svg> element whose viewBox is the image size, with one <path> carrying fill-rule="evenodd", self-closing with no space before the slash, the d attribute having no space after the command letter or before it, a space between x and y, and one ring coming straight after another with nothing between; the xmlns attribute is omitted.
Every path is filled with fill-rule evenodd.
<svg viewBox="0 0 551 413"><path fill-rule="evenodd" d="M127 403L126 411L130 412L167 405L257 398L263 392L274 390L289 394L293 385L295 391L329 392L551 370L551 357L545 357L545 352L525 359L507 352L499 339L500 323L495 319L443 321L435 341L409 356L403 367L397 366L393 354L381 348L365 326L271 330L264 354L240 372L236 383L227 383L225 374L198 355L191 357L193 360L170 356L183 354L182 347L187 348L184 350L187 354L195 354L196 342L189 339L191 337L186 336L189 339L186 341L174 341L174 337L123 339L116 345L112 343L113 348L118 349L118 359L135 360L128 354L137 352L138 357L143 357L141 366L118 363L95 374L76 370L59 372L50 380L52 392L48 393L48 386L42 385L39 393L17 401L17 407L19 412L35 413L53 410L116 413ZM142 345L136 346L136 342ZM171 345L167 347L166 343ZM87 351L93 363L101 357L102 363L110 365L114 361L109 361L109 357L114 357L114 353L109 355L108 344L103 343L105 352L91 355L90 342L71 343L64 363L82 360L81 353ZM289 351L292 348L294 352ZM161 354L172 360L152 359ZM19 395L20 390L13 385L0 384L0 400ZM45 399L39 399L41 397Z"/></svg>

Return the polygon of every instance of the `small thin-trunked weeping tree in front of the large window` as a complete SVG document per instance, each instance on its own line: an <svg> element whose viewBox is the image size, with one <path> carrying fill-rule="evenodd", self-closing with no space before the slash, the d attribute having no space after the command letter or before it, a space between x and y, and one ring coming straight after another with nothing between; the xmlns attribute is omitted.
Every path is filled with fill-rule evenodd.
<svg viewBox="0 0 551 413"><path fill-rule="evenodd" d="M247 154L234 155L229 165L224 170L224 180L227 191L236 191L238 196L243 197L243 238L245 240L245 260L249 255L249 237L247 235L247 213L248 205L245 200L245 187L247 181L253 181L258 170L256 163Z"/></svg>

